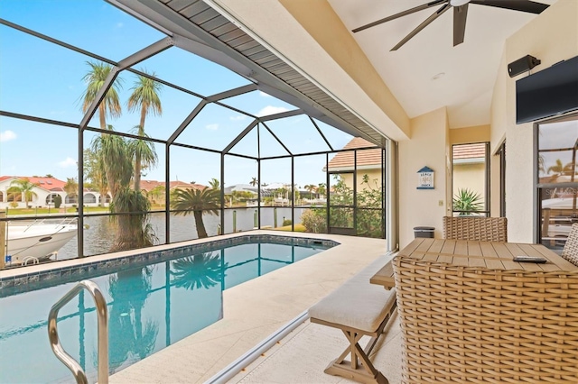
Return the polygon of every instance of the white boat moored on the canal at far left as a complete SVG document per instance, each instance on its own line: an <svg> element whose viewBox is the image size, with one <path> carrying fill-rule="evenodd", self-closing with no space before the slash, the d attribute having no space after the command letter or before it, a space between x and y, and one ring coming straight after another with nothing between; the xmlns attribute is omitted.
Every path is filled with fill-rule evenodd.
<svg viewBox="0 0 578 384"><path fill-rule="evenodd" d="M76 218L12 221L6 224L6 264L47 261L77 234Z"/></svg>

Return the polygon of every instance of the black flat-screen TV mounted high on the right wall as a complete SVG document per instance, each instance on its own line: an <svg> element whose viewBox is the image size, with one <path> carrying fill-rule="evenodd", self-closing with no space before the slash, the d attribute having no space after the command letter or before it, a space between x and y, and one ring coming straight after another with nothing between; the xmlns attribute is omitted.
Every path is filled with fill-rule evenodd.
<svg viewBox="0 0 578 384"><path fill-rule="evenodd" d="M516 123L578 110L578 56L516 81Z"/></svg>

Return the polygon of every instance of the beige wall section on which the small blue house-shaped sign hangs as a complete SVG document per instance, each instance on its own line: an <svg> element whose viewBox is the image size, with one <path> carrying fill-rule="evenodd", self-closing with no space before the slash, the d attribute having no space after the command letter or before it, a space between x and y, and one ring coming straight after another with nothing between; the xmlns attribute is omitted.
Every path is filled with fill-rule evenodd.
<svg viewBox="0 0 578 384"><path fill-rule="evenodd" d="M442 237L450 172L449 129L445 108L412 119L412 138L399 142L399 247L414 239L415 226L435 227ZM417 189L417 171L435 172L434 189ZM440 202L442 205L440 206Z"/></svg>

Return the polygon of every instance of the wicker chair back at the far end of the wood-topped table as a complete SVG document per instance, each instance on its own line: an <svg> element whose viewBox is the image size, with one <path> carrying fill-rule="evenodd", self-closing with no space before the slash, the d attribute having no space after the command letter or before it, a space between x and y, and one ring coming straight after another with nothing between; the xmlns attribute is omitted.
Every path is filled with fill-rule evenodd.
<svg viewBox="0 0 578 384"><path fill-rule="evenodd" d="M506 217L443 216L443 238L508 242L508 219Z"/></svg>

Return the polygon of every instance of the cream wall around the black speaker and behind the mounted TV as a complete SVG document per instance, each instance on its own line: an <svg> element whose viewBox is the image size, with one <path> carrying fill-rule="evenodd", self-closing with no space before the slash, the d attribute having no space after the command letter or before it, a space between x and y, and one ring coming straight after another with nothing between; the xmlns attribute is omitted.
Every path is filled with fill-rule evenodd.
<svg viewBox="0 0 578 384"><path fill-rule="evenodd" d="M526 75L508 76L508 63L528 54L541 60L533 73L578 55L578 1L558 0L514 33L504 47L492 98L491 148L493 153L506 138L506 216L511 242L536 241L534 127L516 124L516 80Z"/></svg>

